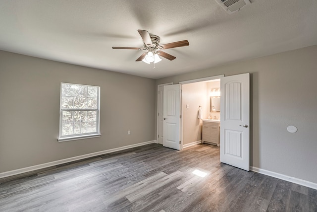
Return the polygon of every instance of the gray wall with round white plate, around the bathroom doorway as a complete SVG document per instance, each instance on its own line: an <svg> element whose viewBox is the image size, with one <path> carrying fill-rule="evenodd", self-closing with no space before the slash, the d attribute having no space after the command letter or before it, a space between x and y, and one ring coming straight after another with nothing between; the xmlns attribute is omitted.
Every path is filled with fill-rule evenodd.
<svg viewBox="0 0 317 212"><path fill-rule="evenodd" d="M156 80L251 73L252 166L317 183L317 46ZM212 59L211 59L212 60ZM294 125L295 134L286 128Z"/></svg>

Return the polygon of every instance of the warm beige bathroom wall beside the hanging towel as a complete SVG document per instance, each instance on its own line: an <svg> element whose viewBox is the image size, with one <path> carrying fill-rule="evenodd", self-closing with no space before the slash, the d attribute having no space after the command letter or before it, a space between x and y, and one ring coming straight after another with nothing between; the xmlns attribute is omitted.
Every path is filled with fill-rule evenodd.
<svg viewBox="0 0 317 212"><path fill-rule="evenodd" d="M203 121L198 119L198 110L201 105L203 118L208 117L206 91L206 82L195 82L182 86L183 145L202 140Z"/></svg>

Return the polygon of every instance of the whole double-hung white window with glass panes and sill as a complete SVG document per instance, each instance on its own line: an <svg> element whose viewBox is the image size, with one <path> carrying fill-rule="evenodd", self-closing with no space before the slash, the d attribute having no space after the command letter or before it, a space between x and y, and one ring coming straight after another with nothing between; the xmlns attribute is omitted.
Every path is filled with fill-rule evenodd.
<svg viewBox="0 0 317 212"><path fill-rule="evenodd" d="M100 87L61 83L58 141L100 137Z"/></svg>

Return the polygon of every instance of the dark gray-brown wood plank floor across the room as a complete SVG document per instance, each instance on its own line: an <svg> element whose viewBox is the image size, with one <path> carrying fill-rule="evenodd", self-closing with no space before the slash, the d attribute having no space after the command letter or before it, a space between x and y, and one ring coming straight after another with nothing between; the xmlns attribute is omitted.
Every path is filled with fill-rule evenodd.
<svg viewBox="0 0 317 212"><path fill-rule="evenodd" d="M0 183L0 212L88 211L317 212L317 190L222 164L209 144L153 143Z"/></svg>

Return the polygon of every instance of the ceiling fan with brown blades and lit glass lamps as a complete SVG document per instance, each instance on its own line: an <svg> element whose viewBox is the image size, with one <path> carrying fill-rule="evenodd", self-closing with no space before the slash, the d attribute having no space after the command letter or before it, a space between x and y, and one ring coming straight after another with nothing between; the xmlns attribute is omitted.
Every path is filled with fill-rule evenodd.
<svg viewBox="0 0 317 212"><path fill-rule="evenodd" d="M170 61L176 58L161 50L182 47L182 46L189 46L188 40L159 45L159 41L160 41L159 36L150 34L148 31L141 30L141 29L139 29L138 32L140 33L143 40L143 48L113 46L112 49L135 49L135 50L146 51L136 61L143 61L147 64L150 64L150 63L158 63L159 61L161 61L159 56L166 58Z"/></svg>

